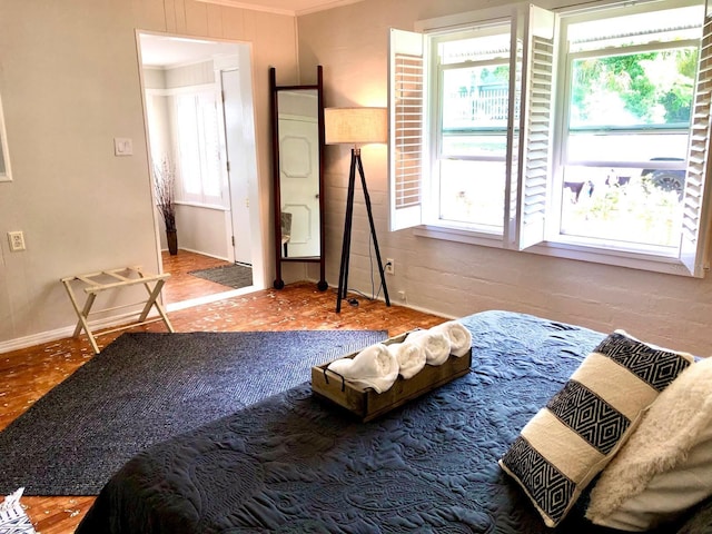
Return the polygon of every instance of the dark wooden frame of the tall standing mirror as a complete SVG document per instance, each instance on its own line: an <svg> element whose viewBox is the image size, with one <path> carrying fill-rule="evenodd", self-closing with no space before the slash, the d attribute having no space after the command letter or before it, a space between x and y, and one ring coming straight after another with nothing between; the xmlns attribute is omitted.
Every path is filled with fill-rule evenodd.
<svg viewBox="0 0 712 534"><path fill-rule="evenodd" d="M328 288L326 283L325 264L325 224L324 224L324 79L322 66L317 66L317 82L313 86L277 86L277 75L274 67L269 68L269 93L270 93L270 118L271 118L271 154L273 154L273 194L274 194L274 230L275 230L275 289L285 287L281 278L281 264L308 263L319 264L319 281L317 288L324 291ZM280 182L280 159L279 159L279 91L316 90L317 95L317 126L318 126L318 165L319 165L319 255L285 257L281 245L281 182Z"/></svg>

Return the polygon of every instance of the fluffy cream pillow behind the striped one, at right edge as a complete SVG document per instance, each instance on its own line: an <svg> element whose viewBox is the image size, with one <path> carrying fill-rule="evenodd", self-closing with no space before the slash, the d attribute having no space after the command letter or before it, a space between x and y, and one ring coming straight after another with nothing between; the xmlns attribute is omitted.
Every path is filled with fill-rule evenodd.
<svg viewBox="0 0 712 534"><path fill-rule="evenodd" d="M593 523L642 532L712 495L712 358L682 373L591 492Z"/></svg>

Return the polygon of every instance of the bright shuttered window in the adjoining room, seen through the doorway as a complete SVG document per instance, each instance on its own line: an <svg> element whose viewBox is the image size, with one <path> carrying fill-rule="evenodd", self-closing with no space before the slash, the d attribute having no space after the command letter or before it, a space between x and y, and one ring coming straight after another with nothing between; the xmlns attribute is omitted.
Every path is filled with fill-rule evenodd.
<svg viewBox="0 0 712 534"><path fill-rule="evenodd" d="M222 206L219 117L215 90L175 97L179 200Z"/></svg>

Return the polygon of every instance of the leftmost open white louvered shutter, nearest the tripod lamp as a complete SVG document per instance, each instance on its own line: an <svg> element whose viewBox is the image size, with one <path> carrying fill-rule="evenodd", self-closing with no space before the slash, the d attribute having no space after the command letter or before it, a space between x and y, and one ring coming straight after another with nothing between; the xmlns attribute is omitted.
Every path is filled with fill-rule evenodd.
<svg viewBox="0 0 712 534"><path fill-rule="evenodd" d="M388 58L388 201L390 231L423 216L425 44L421 33L390 30Z"/></svg>

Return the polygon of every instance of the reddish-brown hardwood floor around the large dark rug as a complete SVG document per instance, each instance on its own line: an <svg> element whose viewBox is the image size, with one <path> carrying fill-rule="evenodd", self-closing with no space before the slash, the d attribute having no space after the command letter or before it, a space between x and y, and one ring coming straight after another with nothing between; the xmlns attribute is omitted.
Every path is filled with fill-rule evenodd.
<svg viewBox="0 0 712 534"><path fill-rule="evenodd" d="M225 261L185 250L174 257L166 255L164 269L171 277L164 288L165 301L225 291L224 286L186 274L222 264ZM169 317L176 332L385 329L389 336L415 327L428 328L444 320L402 306L386 307L382 301L356 297L358 306L346 305L340 314L336 314L335 290L318 291L316 284L299 283L281 290L265 289L171 312ZM165 332L165 326L152 323L132 329ZM99 335L99 347L107 346L119 335ZM65 338L0 355L0 429L92 356L83 335L79 339ZM93 497L22 497L21 503L41 534L70 534L93 503Z"/></svg>

